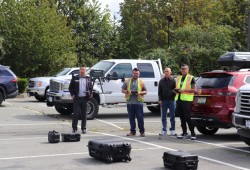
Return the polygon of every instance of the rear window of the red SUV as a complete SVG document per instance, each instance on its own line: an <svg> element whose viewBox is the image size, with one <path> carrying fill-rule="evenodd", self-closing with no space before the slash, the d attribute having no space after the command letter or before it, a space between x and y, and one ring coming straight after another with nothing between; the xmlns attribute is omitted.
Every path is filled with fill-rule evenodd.
<svg viewBox="0 0 250 170"><path fill-rule="evenodd" d="M223 88L232 84L231 74L202 74L196 82L196 88Z"/></svg>

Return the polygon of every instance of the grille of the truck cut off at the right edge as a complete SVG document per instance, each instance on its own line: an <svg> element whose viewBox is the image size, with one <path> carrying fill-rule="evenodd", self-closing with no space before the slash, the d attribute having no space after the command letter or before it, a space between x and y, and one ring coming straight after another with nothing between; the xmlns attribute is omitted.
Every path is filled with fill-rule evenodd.
<svg viewBox="0 0 250 170"><path fill-rule="evenodd" d="M240 92L240 113L250 115L250 92Z"/></svg>

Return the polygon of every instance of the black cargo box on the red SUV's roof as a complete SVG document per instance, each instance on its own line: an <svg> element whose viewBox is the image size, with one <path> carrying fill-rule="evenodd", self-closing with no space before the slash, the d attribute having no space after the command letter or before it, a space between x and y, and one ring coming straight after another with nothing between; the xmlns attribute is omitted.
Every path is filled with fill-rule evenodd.
<svg viewBox="0 0 250 170"><path fill-rule="evenodd" d="M250 52L227 52L217 60L221 66L250 68Z"/></svg>

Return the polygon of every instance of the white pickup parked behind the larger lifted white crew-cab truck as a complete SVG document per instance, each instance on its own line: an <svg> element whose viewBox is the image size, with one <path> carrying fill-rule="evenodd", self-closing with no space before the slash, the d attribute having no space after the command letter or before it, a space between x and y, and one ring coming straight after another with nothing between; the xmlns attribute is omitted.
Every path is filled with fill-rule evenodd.
<svg viewBox="0 0 250 170"><path fill-rule="evenodd" d="M38 101L45 101L47 99L46 92L49 89L50 79L72 74L79 74L79 67L63 68L57 74L50 77L31 78L29 79L29 85L27 87L27 95L34 96Z"/></svg>

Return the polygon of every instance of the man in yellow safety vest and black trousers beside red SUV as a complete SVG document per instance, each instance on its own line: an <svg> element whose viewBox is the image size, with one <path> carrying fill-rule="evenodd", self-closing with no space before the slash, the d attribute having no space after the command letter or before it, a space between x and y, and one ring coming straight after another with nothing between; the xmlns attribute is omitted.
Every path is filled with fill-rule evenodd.
<svg viewBox="0 0 250 170"><path fill-rule="evenodd" d="M194 132L194 125L191 121L191 104L194 99L195 92L195 78L189 74L189 66L186 64L181 65L181 74L176 78L176 113L180 115L182 134L178 135L178 139L188 137L187 125L191 132L191 140L196 140Z"/></svg>

